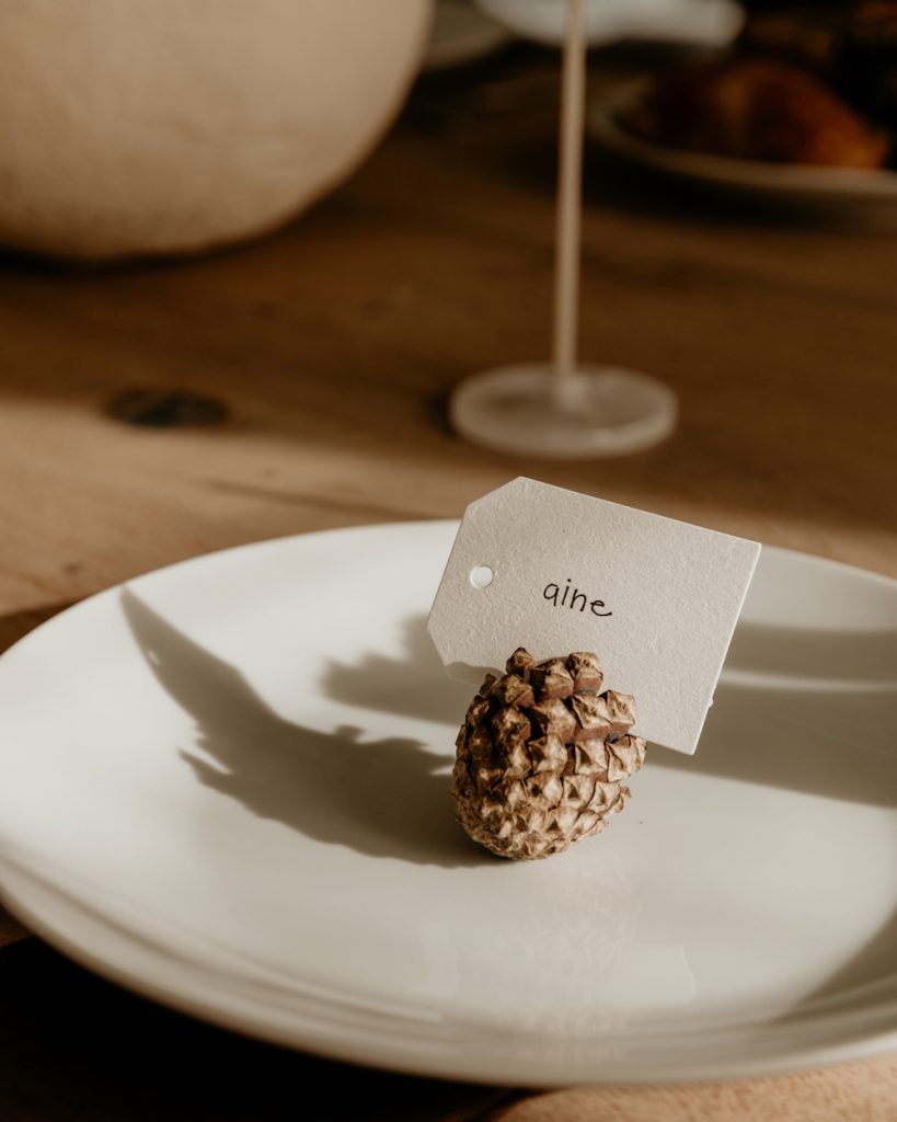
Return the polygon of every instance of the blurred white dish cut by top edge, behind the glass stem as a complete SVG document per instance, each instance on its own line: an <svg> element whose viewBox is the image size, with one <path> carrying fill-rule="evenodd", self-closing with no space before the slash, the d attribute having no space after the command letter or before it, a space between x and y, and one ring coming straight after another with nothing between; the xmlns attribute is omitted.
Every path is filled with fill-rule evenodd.
<svg viewBox="0 0 897 1122"><path fill-rule="evenodd" d="M477 0L494 19L519 35L560 44L567 0ZM593 45L647 38L723 46L742 22L733 0L586 0L585 35Z"/></svg>

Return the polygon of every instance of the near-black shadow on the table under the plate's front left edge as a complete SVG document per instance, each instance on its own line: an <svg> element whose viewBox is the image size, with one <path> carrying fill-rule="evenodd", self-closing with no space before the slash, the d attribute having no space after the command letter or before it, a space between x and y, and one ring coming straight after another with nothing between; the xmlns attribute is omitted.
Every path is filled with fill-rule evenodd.
<svg viewBox="0 0 897 1122"><path fill-rule="evenodd" d="M512 1097L259 1043L133 996L36 939L0 950L3 1122L473 1122Z"/></svg>

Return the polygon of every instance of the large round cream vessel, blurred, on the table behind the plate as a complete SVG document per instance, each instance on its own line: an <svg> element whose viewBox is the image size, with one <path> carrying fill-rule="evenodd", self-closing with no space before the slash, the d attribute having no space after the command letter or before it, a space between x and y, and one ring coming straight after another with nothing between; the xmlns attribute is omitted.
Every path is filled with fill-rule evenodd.
<svg viewBox="0 0 897 1122"><path fill-rule="evenodd" d="M0 4L0 242L104 259L287 221L418 72L432 0Z"/></svg>

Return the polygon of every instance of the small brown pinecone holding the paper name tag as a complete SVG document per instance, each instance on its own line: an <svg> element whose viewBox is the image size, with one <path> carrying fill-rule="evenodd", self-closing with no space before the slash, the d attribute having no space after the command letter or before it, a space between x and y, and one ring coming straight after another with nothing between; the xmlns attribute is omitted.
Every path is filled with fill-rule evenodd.
<svg viewBox="0 0 897 1122"><path fill-rule="evenodd" d="M598 656L536 660L523 647L487 674L457 734L455 817L501 857L531 861L598 834L645 762L635 698L599 692Z"/></svg>

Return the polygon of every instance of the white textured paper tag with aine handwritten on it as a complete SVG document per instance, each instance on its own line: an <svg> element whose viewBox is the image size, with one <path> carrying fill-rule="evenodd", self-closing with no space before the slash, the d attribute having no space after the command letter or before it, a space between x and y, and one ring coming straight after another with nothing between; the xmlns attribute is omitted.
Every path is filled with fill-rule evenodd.
<svg viewBox="0 0 897 1122"><path fill-rule="evenodd" d="M464 515L427 622L452 678L594 651L634 732L692 754L760 546L515 479Z"/></svg>

